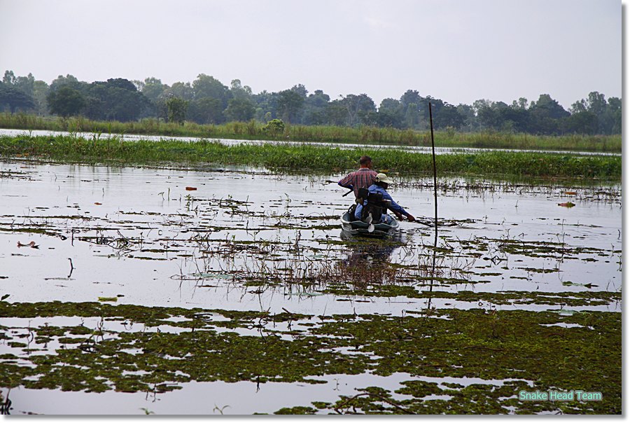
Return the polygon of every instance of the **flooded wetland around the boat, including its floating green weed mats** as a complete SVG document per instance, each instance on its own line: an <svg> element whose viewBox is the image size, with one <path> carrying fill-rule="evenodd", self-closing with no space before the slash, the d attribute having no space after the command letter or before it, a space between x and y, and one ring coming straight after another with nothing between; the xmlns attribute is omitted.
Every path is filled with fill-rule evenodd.
<svg viewBox="0 0 630 423"><path fill-rule="evenodd" d="M575 369L503 352L608 333L620 363L620 186L443 180L434 245L431 181L396 181L421 223L373 240L342 233L341 176L1 163L10 412L475 412L474 389L486 412L553 412L514 390L573 389ZM584 388L615 412L601 371Z"/></svg>

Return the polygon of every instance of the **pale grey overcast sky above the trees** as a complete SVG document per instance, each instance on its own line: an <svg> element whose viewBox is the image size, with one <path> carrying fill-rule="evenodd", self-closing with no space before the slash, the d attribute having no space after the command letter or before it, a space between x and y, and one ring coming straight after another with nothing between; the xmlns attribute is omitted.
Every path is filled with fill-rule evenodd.
<svg viewBox="0 0 630 423"><path fill-rule="evenodd" d="M565 108L622 96L619 0L0 0L0 40L1 72L48 83L203 73L377 106L409 89Z"/></svg>

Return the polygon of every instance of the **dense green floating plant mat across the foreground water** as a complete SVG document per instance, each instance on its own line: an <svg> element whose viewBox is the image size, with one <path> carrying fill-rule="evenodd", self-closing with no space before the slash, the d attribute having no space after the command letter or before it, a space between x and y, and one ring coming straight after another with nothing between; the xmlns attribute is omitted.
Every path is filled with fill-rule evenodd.
<svg viewBox="0 0 630 423"><path fill-rule="evenodd" d="M100 323L54 326L59 316ZM308 316L2 302L0 317L50 317L51 323L4 331L14 351L0 356L1 380L8 387L165 392L191 380L321 383L316 376L405 373L409 380L395 392L365 387L352 398L335 403L314 398L314 408L303 404L310 408L281 412L621 412L621 314L616 312L426 309L405 316ZM120 321L125 326L113 329ZM22 334L28 334L28 342L12 343ZM20 354L26 349L36 354ZM487 382L446 382L467 377ZM442 382L430 382L435 378ZM517 399L521 389L534 388L601 391L603 401ZM444 398L430 398L434 395Z"/></svg>

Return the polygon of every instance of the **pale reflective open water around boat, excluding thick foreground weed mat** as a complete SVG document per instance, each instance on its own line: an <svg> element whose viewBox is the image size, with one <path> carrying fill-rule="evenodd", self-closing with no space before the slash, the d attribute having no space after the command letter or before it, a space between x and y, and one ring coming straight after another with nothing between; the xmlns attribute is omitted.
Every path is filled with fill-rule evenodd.
<svg viewBox="0 0 630 423"><path fill-rule="evenodd" d="M428 180L401 179L390 190L399 204L427 225L402 222L393 243L374 245L348 242L342 236L339 216L351 200L342 197L345 190L328 182L341 174L295 176L265 169L202 172L25 161L2 162L0 172L0 294L9 294L10 303L90 303L116 298L114 305L288 310L313 317L404 315L426 307L562 308L535 302L495 305L439 296L331 291L333 279L347 277L344 269L357 262L371 269L367 275L382 278L383 284L413 286L419 292L610 292L619 291L622 284L620 186L440 181L440 219L452 226L441 226L439 232L437 276L441 282L428 284L433 251L433 229L428 226L433 187ZM566 202L575 207L559 205ZM38 248L18 247L29 242ZM379 263L398 267L382 272ZM289 282L278 283L274 278ZM258 284L252 284L253 279ZM616 302L568 308L572 312L621 311ZM99 319L0 319L0 325L15 333L46 324L96 327ZM142 325L123 328L119 321L106 321L105 327L156 330ZM165 325L158 330L181 328ZM255 328L235 331L256 333ZM59 345L51 342L46 347L50 352ZM6 353L26 354L1 341L0 354ZM22 387L12 389L10 399L13 414L141 414L141 408L157 414L218 414L218 410L248 414L308 405L312 398L335 401L339 395L356 394L356 387L393 391L409 375L318 378L326 383L193 381L179 391L162 394ZM464 385L479 382L434 379ZM7 390L2 393L6 396Z"/></svg>

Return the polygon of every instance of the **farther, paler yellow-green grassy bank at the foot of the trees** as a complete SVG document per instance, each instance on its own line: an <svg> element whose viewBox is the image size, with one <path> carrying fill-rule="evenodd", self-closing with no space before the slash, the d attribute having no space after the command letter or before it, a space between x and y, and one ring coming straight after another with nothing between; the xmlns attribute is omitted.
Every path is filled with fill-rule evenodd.
<svg viewBox="0 0 630 423"><path fill-rule="evenodd" d="M25 114L0 113L0 127L21 130L54 130L106 134L145 134L169 137L201 137L225 139L290 140L330 143L390 144L430 146L430 133L379 127L335 127L287 125L281 134L270 134L255 121L231 122L224 125L185 125L164 123L157 119L139 122L97 122L86 118L42 118ZM565 135L543 137L530 134L499 132L458 133L435 132L436 146L474 148L514 148L534 150L601 151L621 153L621 135Z"/></svg>

